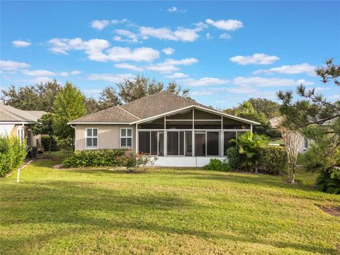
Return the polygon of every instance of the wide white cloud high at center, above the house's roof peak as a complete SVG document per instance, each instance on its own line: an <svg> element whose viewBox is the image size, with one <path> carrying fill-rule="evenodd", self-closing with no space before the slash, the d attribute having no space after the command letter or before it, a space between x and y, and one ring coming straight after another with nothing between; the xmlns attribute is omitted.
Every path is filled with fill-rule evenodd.
<svg viewBox="0 0 340 255"><path fill-rule="evenodd" d="M198 32L202 30L202 28L178 28L175 31L172 31L169 28L151 28L151 27L140 27L140 35L143 39L147 39L149 37L158 38L161 40L174 40L174 41L183 41L183 42L193 42L196 40L199 35Z"/></svg>

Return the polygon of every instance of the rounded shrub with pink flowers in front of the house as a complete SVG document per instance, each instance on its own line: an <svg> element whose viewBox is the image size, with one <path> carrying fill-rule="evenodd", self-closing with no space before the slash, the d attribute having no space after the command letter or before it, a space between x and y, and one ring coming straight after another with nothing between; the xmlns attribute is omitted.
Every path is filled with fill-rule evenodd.
<svg viewBox="0 0 340 255"><path fill-rule="evenodd" d="M137 172L146 171L146 166L153 165L156 160L157 157L151 157L148 154L130 152L121 157L120 164L126 166L130 172Z"/></svg>

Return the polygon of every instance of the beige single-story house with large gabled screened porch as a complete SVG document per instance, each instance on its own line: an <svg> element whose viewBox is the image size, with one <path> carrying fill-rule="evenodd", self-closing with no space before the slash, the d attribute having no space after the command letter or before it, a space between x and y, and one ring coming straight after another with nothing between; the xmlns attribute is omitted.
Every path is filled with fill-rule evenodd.
<svg viewBox="0 0 340 255"><path fill-rule="evenodd" d="M224 159L237 134L251 131L251 120L161 91L70 123L76 149L131 149L158 157L157 166L204 166Z"/></svg>

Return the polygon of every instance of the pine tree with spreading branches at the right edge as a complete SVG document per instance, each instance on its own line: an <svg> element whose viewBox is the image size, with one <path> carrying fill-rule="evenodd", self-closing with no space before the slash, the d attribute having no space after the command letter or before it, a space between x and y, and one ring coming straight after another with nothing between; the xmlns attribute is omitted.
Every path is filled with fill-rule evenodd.
<svg viewBox="0 0 340 255"><path fill-rule="evenodd" d="M315 72L324 84L334 81L335 87L339 88L340 66L333 64L332 59ZM315 89L307 90L302 84L297 86L297 95L300 99L294 101L293 91L278 91L278 98L283 101L280 107L280 113L285 117L283 125L314 140L312 149L306 153L311 159L307 161L307 170L340 171L340 100L329 101Z"/></svg>

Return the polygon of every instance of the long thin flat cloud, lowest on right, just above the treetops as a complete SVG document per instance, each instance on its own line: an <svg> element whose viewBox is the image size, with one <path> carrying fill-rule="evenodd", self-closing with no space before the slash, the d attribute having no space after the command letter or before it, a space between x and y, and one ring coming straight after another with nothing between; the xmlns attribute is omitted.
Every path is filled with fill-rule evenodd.
<svg viewBox="0 0 340 255"><path fill-rule="evenodd" d="M283 78L263 78L263 77L236 77L232 83L237 86L258 86L258 87L276 87L276 86L297 86L300 84L312 85L312 81L305 79L283 79Z"/></svg>

